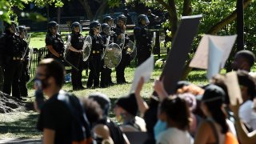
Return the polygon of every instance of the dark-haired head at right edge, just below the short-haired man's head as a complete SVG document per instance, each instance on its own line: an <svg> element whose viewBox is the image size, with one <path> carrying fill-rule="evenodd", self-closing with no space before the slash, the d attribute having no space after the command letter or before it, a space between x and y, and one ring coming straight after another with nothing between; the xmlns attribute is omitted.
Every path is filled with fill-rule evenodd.
<svg viewBox="0 0 256 144"><path fill-rule="evenodd" d="M245 70L238 70L237 75L243 101L253 100L255 95L254 78Z"/></svg>

